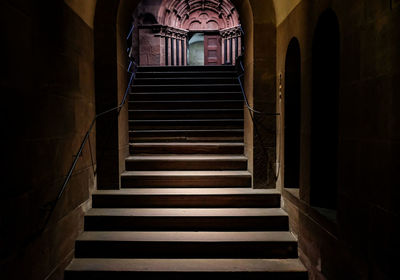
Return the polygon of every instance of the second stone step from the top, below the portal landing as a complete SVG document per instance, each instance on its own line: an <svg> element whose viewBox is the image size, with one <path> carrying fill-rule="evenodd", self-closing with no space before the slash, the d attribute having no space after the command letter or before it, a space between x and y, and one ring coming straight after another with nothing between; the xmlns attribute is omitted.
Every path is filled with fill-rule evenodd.
<svg viewBox="0 0 400 280"><path fill-rule="evenodd" d="M175 78L175 77L237 77L236 71L158 71L136 73L136 78Z"/></svg>

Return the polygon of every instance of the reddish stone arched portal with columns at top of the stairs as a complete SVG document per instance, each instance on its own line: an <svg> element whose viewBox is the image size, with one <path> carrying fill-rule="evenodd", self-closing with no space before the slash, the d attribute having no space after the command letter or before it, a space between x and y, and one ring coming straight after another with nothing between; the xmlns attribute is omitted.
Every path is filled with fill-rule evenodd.
<svg viewBox="0 0 400 280"><path fill-rule="evenodd" d="M229 0L143 0L133 21L141 66L235 64L241 55L239 13Z"/></svg>

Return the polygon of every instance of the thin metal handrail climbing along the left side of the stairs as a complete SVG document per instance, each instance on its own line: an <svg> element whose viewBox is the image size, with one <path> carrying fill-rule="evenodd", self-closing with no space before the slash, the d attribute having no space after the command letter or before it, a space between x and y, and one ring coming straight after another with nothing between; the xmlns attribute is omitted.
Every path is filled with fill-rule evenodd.
<svg viewBox="0 0 400 280"><path fill-rule="evenodd" d="M132 44L132 42L131 42L132 40L131 39L132 39L134 28L135 28L135 26L132 24L132 27L131 27L131 29L130 29L130 31L128 33L128 36L126 37L126 40L128 41L128 44ZM115 111L117 112L117 114L119 116L120 113L121 113L122 108L126 104L126 100L128 98L128 94L130 92L133 79L136 77L136 70L137 70L137 64L136 64L135 59L134 59L134 57L133 57L133 55L131 53L131 48L132 48L132 46L127 48L128 58L129 58L129 65L128 65L128 68L127 68L127 72L129 74L131 74L131 76L130 76L130 79L129 79L129 82L128 82L128 86L127 86L127 88L125 90L124 97L122 98L122 101L118 106L113 107L111 109L108 109L106 111L103 111L103 112L97 114L93 118L93 120L92 120L92 122L91 122L91 124L89 126L89 129L86 131L85 136L83 137L83 139L81 141L81 145L79 146L79 150L74 156L74 160L73 160L73 162L71 164L71 167L69 168L69 171L68 171L68 173L67 173L67 175L66 175L66 177L65 177L65 179L64 179L64 181L63 181L63 183L61 185L61 188L60 188L60 191L58 192L57 198L55 200L51 201L50 203L48 203L46 205L47 207L45 207L45 209L48 210L49 214L46 217L46 221L45 221L45 223L44 223L44 225L43 225L43 227L41 229L41 232L43 232L46 229L46 227L47 227L47 225L48 225L48 223L50 221L50 218L52 217L52 215L54 213L54 210L55 210L55 208L57 206L58 201L60 201L61 197L63 196L63 194L64 194L64 192L65 192L65 190L66 190L66 188L68 186L68 183L69 183L69 181L70 181L70 179L72 177L72 173L74 172L75 167L76 167L76 165L78 163L79 157L82 155L83 148L85 147L85 145L88 142L88 140L90 141L89 136L90 136L90 133L91 133L91 131L92 131L97 119L102 117L102 116L104 116L104 115L107 115L109 113L115 112ZM132 66L133 66L133 69L132 69Z"/></svg>

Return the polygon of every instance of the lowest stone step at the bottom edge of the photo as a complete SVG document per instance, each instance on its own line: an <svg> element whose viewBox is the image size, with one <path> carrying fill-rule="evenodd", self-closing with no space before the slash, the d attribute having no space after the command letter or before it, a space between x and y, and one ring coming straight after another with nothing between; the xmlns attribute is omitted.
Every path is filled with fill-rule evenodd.
<svg viewBox="0 0 400 280"><path fill-rule="evenodd" d="M65 280L307 280L298 259L74 259Z"/></svg>

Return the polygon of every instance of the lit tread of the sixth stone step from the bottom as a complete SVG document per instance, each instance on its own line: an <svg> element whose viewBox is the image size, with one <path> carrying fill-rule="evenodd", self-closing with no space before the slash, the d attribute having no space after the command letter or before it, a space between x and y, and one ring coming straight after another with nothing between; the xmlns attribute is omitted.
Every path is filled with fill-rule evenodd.
<svg viewBox="0 0 400 280"><path fill-rule="evenodd" d="M145 155L145 156L129 156L126 161L221 161L221 160L232 160L232 161L246 161L247 157L243 155Z"/></svg>

